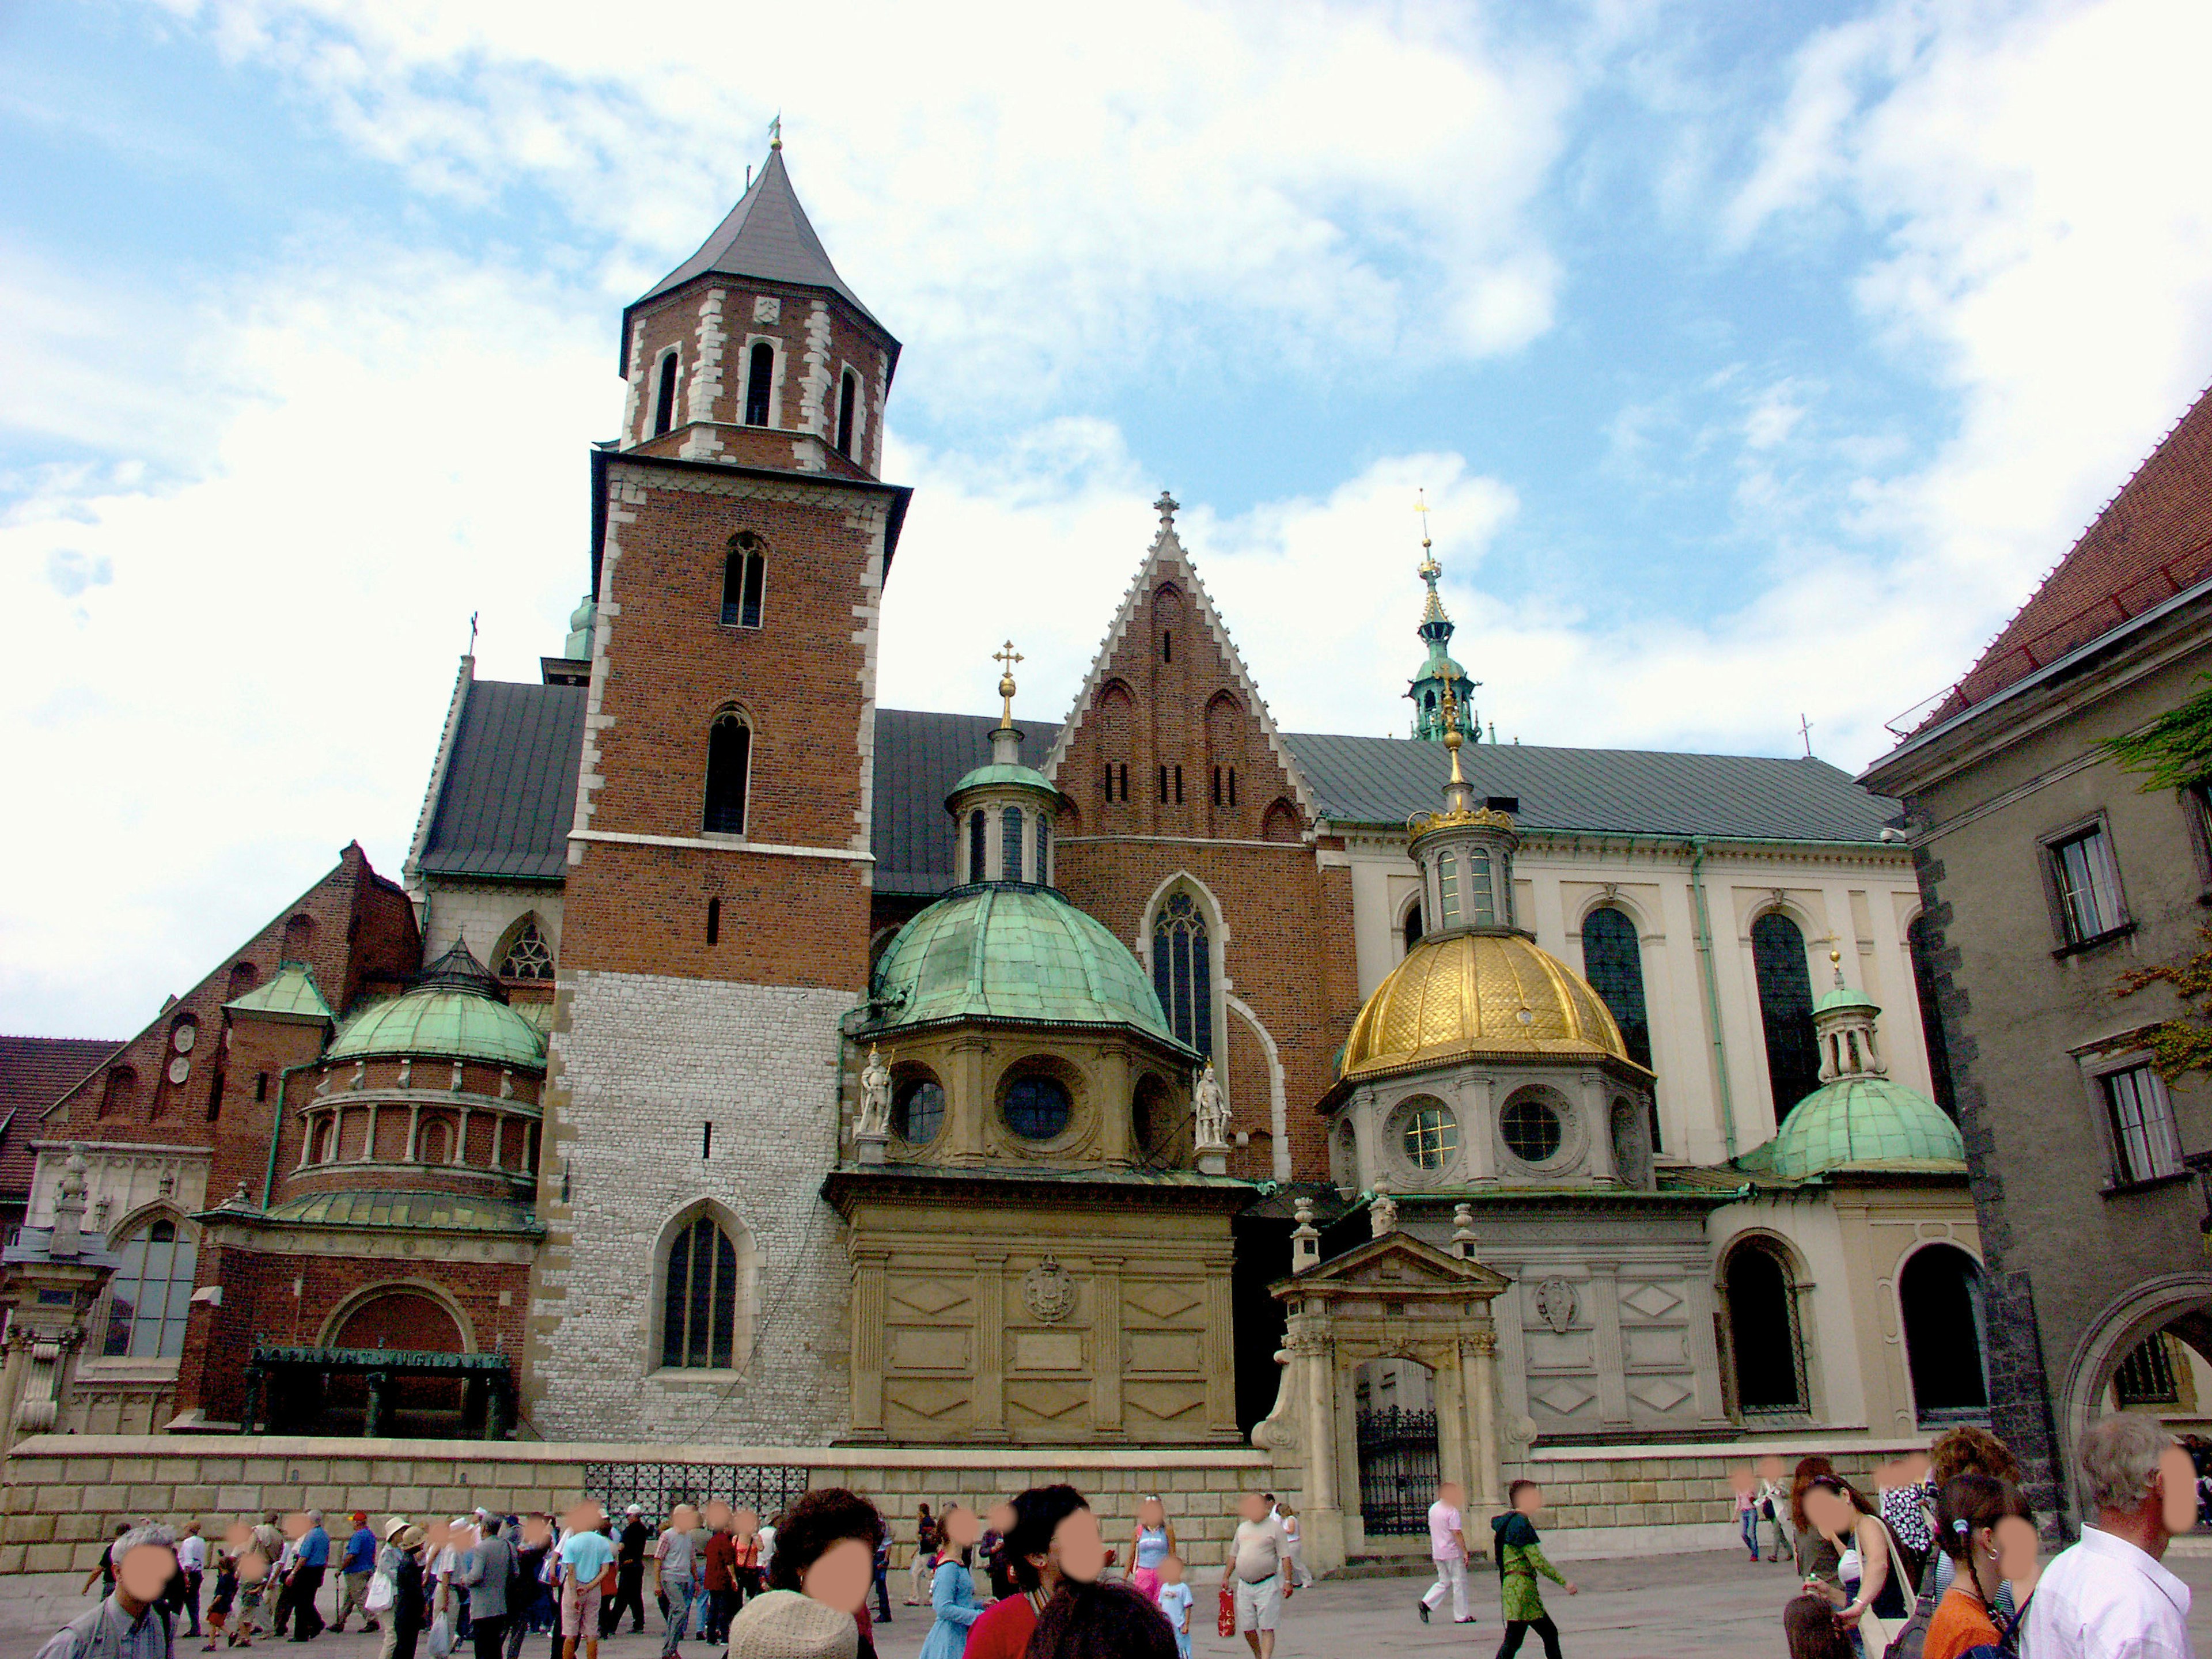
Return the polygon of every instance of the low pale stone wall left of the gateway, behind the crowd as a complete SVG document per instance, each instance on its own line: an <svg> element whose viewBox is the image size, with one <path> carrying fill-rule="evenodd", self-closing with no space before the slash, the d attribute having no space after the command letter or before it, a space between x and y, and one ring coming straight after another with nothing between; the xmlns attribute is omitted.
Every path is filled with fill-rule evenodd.
<svg viewBox="0 0 2212 1659"><path fill-rule="evenodd" d="M1219 1564L1239 1493L1270 1480L1259 1451L894 1451L823 1447L473 1444L460 1440L279 1440L177 1436L38 1436L7 1458L0 1489L0 1573L91 1571L119 1520L199 1520L219 1535L268 1509L365 1509L458 1515L489 1509L560 1511L584 1493L591 1464L801 1467L810 1486L867 1493L891 1517L898 1557L914 1509L947 1500L984 1506L1066 1480L1099 1513L1106 1542L1126 1548L1137 1502L1159 1493L1188 1559Z"/></svg>

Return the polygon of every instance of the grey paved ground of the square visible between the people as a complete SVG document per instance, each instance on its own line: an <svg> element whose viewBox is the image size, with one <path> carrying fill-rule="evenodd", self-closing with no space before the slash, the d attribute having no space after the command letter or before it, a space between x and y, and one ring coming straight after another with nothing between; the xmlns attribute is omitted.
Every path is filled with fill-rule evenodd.
<svg viewBox="0 0 2212 1659"><path fill-rule="evenodd" d="M2212 1542L2212 1540L2208 1540ZM2197 1590L2190 1630L2201 1652L2212 1652L2212 1553L2174 1553L2172 1566ZM1734 1551L1710 1555L1641 1555L1610 1562L1571 1562L1568 1577L1582 1595L1568 1597L1546 1586L1546 1601L1559 1621L1559 1641L1568 1659L1783 1659L1781 1604L1794 1588L1781 1566L1752 1566ZM24 1573L0 1579L0 1655L31 1655L53 1630L91 1606L75 1588L82 1579L62 1573ZM1482 1655L1495 1652L1502 1626L1498 1621L1498 1582L1484 1573L1469 1575L1478 1624L1420 1624L1413 1601L1427 1579L1349 1579L1316 1584L1290 1601L1276 1644L1281 1659L1398 1659L1398 1655ZM900 1579L891 1582L894 1593ZM894 1621L878 1628L876 1650L883 1659L914 1659L929 1630L927 1608L891 1601ZM1199 1615L1206 1615L1199 1619ZM1214 1635L1212 1593L1201 1595L1192 1610L1194 1659L1234 1659L1243 1639L1223 1641ZM312 1644L323 1659L376 1659L378 1637L358 1632L323 1635ZM197 1644L177 1644L179 1652L197 1652ZM285 1652L296 1652L285 1644ZM1542 1652L1531 1641L1524 1652ZM418 1650L427 1655L425 1650ZM465 1652L465 1650L462 1650ZM529 1659L549 1657L549 1639L531 1641ZM686 1641L684 1652L708 1659L710 1648ZM659 1637L648 1632L617 1635L602 1644L602 1659L657 1659ZM557 1655L553 1655L557 1659Z"/></svg>

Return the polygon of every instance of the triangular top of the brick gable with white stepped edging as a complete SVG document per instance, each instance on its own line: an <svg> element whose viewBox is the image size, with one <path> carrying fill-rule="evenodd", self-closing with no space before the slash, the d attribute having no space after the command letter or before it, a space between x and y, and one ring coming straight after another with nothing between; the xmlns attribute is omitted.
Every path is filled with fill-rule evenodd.
<svg viewBox="0 0 2212 1659"><path fill-rule="evenodd" d="M1086 830L1106 807L1104 823L1126 816L1148 832L1294 841L1314 821L1314 794L1183 551L1175 498L1155 507L1159 531L1042 770ZM1128 768L1126 801L1119 770L1108 799L1106 765Z"/></svg>

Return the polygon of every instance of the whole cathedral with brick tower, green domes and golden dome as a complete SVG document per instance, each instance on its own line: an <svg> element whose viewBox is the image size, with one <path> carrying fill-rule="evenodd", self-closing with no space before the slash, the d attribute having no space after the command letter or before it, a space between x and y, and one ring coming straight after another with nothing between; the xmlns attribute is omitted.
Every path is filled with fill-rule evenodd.
<svg viewBox="0 0 2212 1659"><path fill-rule="evenodd" d="M1484 741L1427 546L1407 737L1285 732L1166 493L1071 708L1011 646L880 708L898 354L779 144L624 312L584 599L460 661L405 865L13 1126L9 1261L113 1259L49 1422L1259 1444L1343 1555L1438 1471L1986 1411L1896 803Z"/></svg>

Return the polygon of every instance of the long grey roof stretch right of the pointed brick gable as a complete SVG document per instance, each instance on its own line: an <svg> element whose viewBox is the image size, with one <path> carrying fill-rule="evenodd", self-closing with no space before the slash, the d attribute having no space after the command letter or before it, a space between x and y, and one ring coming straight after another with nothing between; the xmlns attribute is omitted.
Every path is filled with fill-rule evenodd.
<svg viewBox="0 0 2212 1659"><path fill-rule="evenodd" d="M1440 743L1285 732L1321 816L1405 823L1442 807L1451 761ZM1743 841L1880 841L1898 803L1827 761L1469 743L1475 794L1520 796L1522 830Z"/></svg>

